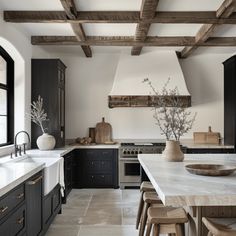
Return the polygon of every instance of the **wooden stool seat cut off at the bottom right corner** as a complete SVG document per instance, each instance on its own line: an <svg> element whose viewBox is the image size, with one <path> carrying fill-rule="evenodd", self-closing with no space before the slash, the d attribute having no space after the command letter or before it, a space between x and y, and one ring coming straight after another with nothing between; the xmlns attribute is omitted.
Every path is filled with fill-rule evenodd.
<svg viewBox="0 0 236 236"><path fill-rule="evenodd" d="M215 221L218 221L217 223L214 222L214 219L212 218L202 218L202 222L206 226L206 228L209 230L208 236L235 236L236 235L236 229L232 227L232 225L236 223L235 218L228 218L228 219L222 219L224 221L223 224L221 224L221 219L215 218Z"/></svg>

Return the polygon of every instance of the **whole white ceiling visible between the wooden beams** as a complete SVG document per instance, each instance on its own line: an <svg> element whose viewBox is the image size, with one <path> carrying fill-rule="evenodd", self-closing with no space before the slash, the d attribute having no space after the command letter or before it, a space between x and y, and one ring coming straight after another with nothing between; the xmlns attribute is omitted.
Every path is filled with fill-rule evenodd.
<svg viewBox="0 0 236 236"><path fill-rule="evenodd" d="M160 0L158 10L161 11L216 11L223 0ZM76 6L81 11L139 11L141 0L75 0ZM60 0L0 0L0 11L4 10L63 10ZM69 24L51 23L24 23L13 24L25 32L28 37L31 35L74 35ZM136 24L83 24L86 35L94 36L134 36ZM149 36L194 36L200 24L152 24ZM214 36L236 37L236 26L220 26ZM45 47L48 51L59 51L74 53L78 46L50 46ZM73 50L73 48L75 50ZM92 47L95 52L117 52L122 47ZM127 48L130 49L130 48ZM145 50L165 50L170 48L150 47ZM171 48L171 49L181 49ZM216 49L216 48L215 48ZM80 49L78 49L80 50ZM212 49L211 49L212 50ZM222 51L223 50L223 51ZM224 52L229 48L216 49ZM213 48L214 51L214 48Z"/></svg>

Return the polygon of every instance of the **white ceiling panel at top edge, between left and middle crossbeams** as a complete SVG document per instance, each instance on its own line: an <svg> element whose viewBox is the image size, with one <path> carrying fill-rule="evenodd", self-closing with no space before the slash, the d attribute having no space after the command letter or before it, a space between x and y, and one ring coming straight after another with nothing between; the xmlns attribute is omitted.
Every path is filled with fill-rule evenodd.
<svg viewBox="0 0 236 236"><path fill-rule="evenodd" d="M139 11L141 0L75 0L81 11Z"/></svg>

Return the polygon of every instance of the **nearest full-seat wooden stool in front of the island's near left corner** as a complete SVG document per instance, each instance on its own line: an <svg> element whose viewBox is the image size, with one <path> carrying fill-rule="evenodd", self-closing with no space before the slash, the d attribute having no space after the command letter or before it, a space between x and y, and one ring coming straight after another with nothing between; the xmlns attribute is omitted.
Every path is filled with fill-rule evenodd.
<svg viewBox="0 0 236 236"><path fill-rule="evenodd" d="M183 208L175 207L150 207L148 209L148 223L146 236L149 236L154 225L153 236L160 234L173 234L183 236L182 226L188 222L188 217Z"/></svg>

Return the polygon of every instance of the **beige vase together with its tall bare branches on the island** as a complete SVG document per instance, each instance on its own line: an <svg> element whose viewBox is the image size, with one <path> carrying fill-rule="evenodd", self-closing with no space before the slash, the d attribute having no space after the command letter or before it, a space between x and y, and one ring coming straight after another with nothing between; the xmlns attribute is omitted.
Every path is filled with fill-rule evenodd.
<svg viewBox="0 0 236 236"><path fill-rule="evenodd" d="M154 119L161 130L161 134L166 137L166 148L163 157L167 161L183 161L184 154L180 149L179 139L186 134L193 126L196 113L191 116L186 105L178 99L178 88L167 89L170 78L164 84L161 92L157 91L152 82L146 78L144 83L148 83L158 102L154 105Z"/></svg>

